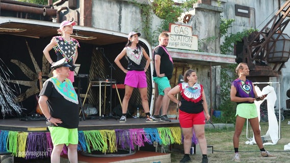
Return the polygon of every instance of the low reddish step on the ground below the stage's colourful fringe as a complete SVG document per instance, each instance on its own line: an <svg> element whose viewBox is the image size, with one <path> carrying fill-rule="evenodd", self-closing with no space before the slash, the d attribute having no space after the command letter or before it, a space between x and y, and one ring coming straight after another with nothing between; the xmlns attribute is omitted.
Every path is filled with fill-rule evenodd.
<svg viewBox="0 0 290 163"><path fill-rule="evenodd" d="M89 157L79 154L78 160L79 163L171 163L171 154L149 151L137 151L133 155L122 157ZM68 162L66 155L61 157L61 162Z"/></svg>

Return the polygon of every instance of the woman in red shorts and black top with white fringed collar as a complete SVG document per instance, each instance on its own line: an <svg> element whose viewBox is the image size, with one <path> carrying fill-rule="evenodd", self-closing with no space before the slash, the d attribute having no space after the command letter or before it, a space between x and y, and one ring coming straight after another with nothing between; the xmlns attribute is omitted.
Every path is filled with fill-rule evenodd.
<svg viewBox="0 0 290 163"><path fill-rule="evenodd" d="M179 106L179 123L182 128L184 140L184 157L180 162L190 160L189 153L192 140L192 132L195 131L198 139L202 162L207 163L207 143L205 139L205 119L209 120L207 103L203 86L197 83L198 76L194 70L187 70L184 73L184 82L175 86L168 92L168 97ZM181 94L180 101L174 96Z"/></svg>

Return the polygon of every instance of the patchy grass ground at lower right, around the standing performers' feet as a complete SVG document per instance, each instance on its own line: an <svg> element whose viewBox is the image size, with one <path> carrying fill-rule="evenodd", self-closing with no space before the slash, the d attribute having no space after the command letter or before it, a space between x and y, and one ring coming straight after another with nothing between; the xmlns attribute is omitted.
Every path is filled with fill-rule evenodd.
<svg viewBox="0 0 290 163"><path fill-rule="evenodd" d="M260 152L257 145L247 145L245 142L247 139L246 123L243 132L240 135L239 140L239 152L242 159L241 162L290 162L290 151L284 151L284 145L290 143L290 125L287 122L290 121L290 117L287 117L281 122L281 139L276 145L265 145L265 150L277 156L275 159L260 158ZM268 122L261 122L261 135L265 135L268 130ZM251 127L249 126L249 129ZM228 129L207 129L205 131L208 145L213 145L213 154L208 153L209 162L234 162L232 157L234 156L234 149L232 143L232 137L234 128ZM252 137L252 131L248 131L248 137ZM197 146L199 148L199 146ZM179 162L183 157L183 150L172 150L171 152L172 163ZM190 155L191 162L201 162L202 155Z"/></svg>

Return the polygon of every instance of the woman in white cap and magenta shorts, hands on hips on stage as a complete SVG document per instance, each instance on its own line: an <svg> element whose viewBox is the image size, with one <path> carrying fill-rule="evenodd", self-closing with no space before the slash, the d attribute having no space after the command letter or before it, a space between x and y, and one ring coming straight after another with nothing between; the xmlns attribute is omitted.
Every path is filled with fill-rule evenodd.
<svg viewBox="0 0 290 163"><path fill-rule="evenodd" d="M119 53L115 59L116 65L126 73L125 77L125 96L122 102L122 117L119 122L126 122L126 113L128 110L128 103L134 88L138 88L142 101L144 112L146 113L146 122L157 122L152 118L149 112L149 103L147 97L147 80L146 71L150 65L150 57L147 52L138 44L139 36L137 32L130 32L128 35L128 43L124 49ZM120 60L126 57L128 61L128 68L124 68ZM146 65L141 64L142 58L147 60Z"/></svg>

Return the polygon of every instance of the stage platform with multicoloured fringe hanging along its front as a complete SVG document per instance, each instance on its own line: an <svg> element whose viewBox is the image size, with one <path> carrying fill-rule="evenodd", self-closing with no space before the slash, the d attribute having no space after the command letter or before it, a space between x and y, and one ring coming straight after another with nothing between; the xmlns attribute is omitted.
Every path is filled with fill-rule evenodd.
<svg viewBox="0 0 290 163"><path fill-rule="evenodd" d="M112 162L144 162L141 161L144 158L136 159L139 154L144 154L143 151L138 150L139 147L146 148L149 145L150 150L154 151L155 144L159 146L182 144L179 120L146 122L145 118L127 118L125 123L120 123L119 119L96 118L80 121L78 130L78 151L85 153L85 156L79 157L84 159L82 162L95 162L96 158L90 157L90 155L95 157L94 151L100 152L101 155L105 153L119 155L120 150L132 150L136 153L129 152L123 158L110 158ZM17 158L28 160L48 158L53 148L45 121L20 121L18 118L0 120L0 138L2 138L0 149ZM150 153L146 153L147 162L170 162L170 154L153 153L151 156L149 156ZM64 147L64 159L66 154L67 147Z"/></svg>

